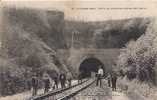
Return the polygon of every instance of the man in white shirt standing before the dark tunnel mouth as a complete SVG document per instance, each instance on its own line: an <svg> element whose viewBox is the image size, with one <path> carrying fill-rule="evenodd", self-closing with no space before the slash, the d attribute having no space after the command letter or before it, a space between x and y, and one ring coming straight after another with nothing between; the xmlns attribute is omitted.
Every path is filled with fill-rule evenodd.
<svg viewBox="0 0 157 100"><path fill-rule="evenodd" d="M98 73L97 73L96 86L98 86L99 84L100 84L100 87L102 86L101 79L103 77L103 74L104 74L104 70L102 69L102 66L99 66Z"/></svg>

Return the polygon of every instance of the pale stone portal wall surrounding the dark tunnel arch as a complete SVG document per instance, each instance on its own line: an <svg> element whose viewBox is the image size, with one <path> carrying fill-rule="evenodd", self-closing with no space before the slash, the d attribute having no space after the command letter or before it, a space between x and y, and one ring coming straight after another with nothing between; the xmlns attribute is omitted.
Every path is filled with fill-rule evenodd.
<svg viewBox="0 0 157 100"><path fill-rule="evenodd" d="M74 77L78 77L82 65L88 65L89 59L102 63L105 69L105 75L112 70L114 62L117 60L121 49L75 49L75 50L58 50L57 56L68 65L69 70ZM94 64L92 64L94 65ZM88 65L90 66L90 65ZM97 65L95 65L97 66ZM90 71L91 72L91 71ZM90 75L90 74L89 74Z"/></svg>

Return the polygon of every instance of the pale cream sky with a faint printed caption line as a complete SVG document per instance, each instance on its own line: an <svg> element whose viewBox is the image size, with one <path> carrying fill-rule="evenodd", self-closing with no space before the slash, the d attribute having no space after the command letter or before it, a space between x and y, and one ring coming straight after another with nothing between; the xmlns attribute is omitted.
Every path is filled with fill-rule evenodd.
<svg viewBox="0 0 157 100"><path fill-rule="evenodd" d="M9 1L9 2L8 2ZM126 19L132 17L156 16L156 1L141 0L3 0L5 6L29 7L44 10L60 10L65 13L65 19L84 21L103 21L111 19Z"/></svg>

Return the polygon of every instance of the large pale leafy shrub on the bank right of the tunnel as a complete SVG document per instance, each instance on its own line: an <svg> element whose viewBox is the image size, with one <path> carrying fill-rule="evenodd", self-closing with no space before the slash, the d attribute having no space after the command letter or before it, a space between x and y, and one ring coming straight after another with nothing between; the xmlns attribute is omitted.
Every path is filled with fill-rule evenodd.
<svg viewBox="0 0 157 100"><path fill-rule="evenodd" d="M120 54L117 65L127 73L129 79L137 78L156 84L156 25L156 19L152 19L145 34L137 41L130 41Z"/></svg>

